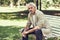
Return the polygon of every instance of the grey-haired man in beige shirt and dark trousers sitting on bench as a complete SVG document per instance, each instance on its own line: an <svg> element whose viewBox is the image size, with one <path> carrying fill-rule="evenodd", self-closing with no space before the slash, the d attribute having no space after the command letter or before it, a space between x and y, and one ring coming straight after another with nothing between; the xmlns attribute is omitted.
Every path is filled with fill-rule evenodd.
<svg viewBox="0 0 60 40"><path fill-rule="evenodd" d="M34 3L27 4L27 8L29 10L28 22L22 31L22 40L28 40L29 34L34 34L36 36L36 40L42 40L44 35L42 33L42 28L48 28L48 22L44 17L44 14L37 10L37 7Z"/></svg>

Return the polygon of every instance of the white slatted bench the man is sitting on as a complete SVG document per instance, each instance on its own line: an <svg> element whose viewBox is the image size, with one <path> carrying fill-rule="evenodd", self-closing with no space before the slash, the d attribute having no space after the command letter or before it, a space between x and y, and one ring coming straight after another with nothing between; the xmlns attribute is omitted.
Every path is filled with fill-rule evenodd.
<svg viewBox="0 0 60 40"><path fill-rule="evenodd" d="M51 32L52 32L51 36L48 38L55 37L55 39L57 38L56 40L59 40L60 39L59 38L60 37L60 16L45 15L45 17L49 20L51 26Z"/></svg>

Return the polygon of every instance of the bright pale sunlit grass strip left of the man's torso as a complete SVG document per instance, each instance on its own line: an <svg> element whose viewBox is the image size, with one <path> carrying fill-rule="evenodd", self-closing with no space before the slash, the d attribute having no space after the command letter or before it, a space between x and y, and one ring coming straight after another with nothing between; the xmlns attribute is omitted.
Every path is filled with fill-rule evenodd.
<svg viewBox="0 0 60 40"><path fill-rule="evenodd" d="M25 26L27 20L0 20L0 26Z"/></svg>

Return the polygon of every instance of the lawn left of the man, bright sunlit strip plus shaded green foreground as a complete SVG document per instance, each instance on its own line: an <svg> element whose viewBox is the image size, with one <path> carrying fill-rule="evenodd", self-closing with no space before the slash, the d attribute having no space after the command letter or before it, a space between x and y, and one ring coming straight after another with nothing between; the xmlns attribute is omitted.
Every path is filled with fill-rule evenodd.
<svg viewBox="0 0 60 40"><path fill-rule="evenodd" d="M0 40L20 40L19 30L26 24L26 20L1 20L0 19Z"/></svg>

